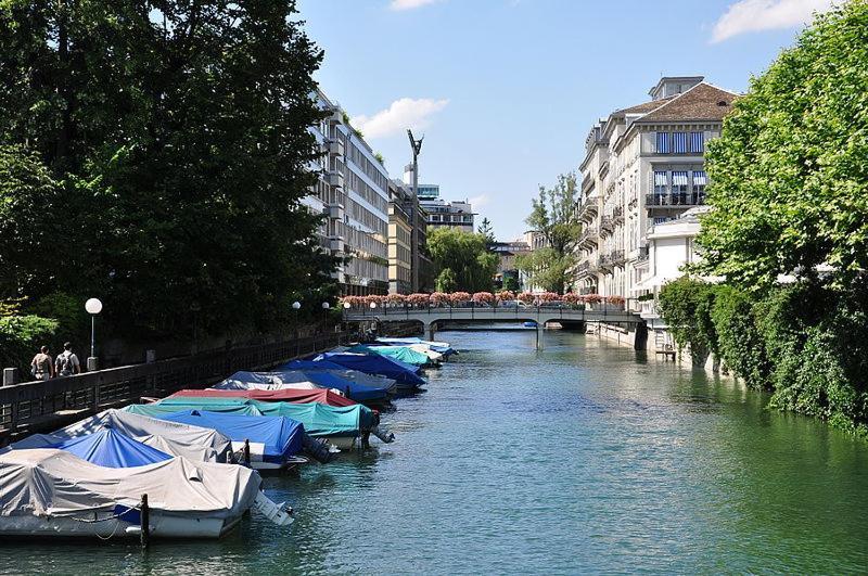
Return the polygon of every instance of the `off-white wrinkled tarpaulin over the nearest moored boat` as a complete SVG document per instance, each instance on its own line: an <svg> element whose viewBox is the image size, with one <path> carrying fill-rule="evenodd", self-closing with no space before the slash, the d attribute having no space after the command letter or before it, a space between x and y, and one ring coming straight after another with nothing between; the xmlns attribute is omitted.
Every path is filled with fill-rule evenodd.
<svg viewBox="0 0 868 576"><path fill-rule="evenodd" d="M233 519L253 504L261 478L234 464L173 458L146 466L103 468L50 448L0 455L0 516L77 516L133 508L143 494L152 511Z"/></svg>

